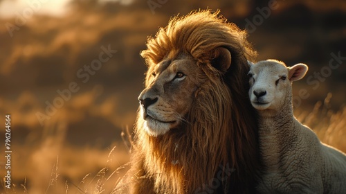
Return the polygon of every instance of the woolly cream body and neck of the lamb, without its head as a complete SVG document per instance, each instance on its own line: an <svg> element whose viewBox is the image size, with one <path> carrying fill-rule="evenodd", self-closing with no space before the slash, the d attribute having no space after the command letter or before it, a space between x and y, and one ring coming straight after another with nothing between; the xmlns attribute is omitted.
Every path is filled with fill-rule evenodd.
<svg viewBox="0 0 346 194"><path fill-rule="evenodd" d="M286 118L286 119L283 119ZM292 114L260 117L261 193L345 193L346 157Z"/></svg>

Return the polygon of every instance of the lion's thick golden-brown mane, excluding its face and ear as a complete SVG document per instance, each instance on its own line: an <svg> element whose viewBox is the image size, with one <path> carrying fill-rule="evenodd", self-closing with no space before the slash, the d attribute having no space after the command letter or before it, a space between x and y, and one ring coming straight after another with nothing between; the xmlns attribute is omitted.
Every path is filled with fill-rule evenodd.
<svg viewBox="0 0 346 194"><path fill-rule="evenodd" d="M232 56L227 72L210 65L219 46L228 48ZM219 12L191 12L174 17L149 37L141 55L150 67L172 51L191 55L207 79L201 80L181 129L149 136L138 116L129 170L131 193L203 193L211 188L217 193L253 193L260 162L257 114L248 100L246 74L247 60L256 53L246 41L246 32ZM174 164L177 155L179 164ZM230 176L219 179L219 172L229 173L228 166L233 168Z"/></svg>

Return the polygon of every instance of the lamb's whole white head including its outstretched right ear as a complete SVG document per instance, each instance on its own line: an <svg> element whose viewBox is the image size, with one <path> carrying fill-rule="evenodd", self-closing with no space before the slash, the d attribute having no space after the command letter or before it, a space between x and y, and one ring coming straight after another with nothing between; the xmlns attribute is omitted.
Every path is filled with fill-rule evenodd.
<svg viewBox="0 0 346 194"><path fill-rule="evenodd" d="M291 83L300 80L307 73L306 64L295 64L286 67L277 60L265 60L253 64L249 62L248 72L251 104L255 109L266 111L266 115L282 111L285 103L291 105Z"/></svg>

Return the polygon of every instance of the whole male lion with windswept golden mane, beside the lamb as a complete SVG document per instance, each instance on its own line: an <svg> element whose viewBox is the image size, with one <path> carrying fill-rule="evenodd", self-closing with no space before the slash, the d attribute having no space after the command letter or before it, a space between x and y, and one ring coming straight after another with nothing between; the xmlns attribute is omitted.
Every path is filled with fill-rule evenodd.
<svg viewBox="0 0 346 194"><path fill-rule="evenodd" d="M256 52L217 12L174 17L147 40L130 193L253 193L260 168L249 67Z"/></svg>

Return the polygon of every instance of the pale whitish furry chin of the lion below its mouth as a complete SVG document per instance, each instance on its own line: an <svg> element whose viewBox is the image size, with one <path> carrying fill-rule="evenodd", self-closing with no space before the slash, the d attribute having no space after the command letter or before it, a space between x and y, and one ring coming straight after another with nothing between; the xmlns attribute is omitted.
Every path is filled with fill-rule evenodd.
<svg viewBox="0 0 346 194"><path fill-rule="evenodd" d="M145 131L150 136L163 135L170 130L171 123L163 123L154 119L147 119L144 123Z"/></svg>

